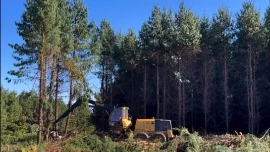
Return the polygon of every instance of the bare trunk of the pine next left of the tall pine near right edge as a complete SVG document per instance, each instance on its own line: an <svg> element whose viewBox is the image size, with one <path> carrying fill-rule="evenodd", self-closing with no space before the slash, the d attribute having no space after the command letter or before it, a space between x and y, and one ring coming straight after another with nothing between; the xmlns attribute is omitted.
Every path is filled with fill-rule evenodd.
<svg viewBox="0 0 270 152"><path fill-rule="evenodd" d="M227 51L224 49L224 96L225 96L225 117L226 133L229 132L229 113L228 113L228 86L227 86Z"/></svg>

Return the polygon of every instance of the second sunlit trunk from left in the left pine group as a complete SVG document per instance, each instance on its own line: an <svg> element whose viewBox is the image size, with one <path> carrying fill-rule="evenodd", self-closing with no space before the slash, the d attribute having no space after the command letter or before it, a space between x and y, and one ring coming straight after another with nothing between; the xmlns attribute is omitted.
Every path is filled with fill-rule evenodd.
<svg viewBox="0 0 270 152"><path fill-rule="evenodd" d="M52 101L52 96L53 96L53 87L54 87L54 59L52 61L52 66L51 66L51 78L50 78L50 86L49 86L49 103L50 105L52 105L53 101ZM46 126L46 135L45 135L45 140L48 141L49 140L49 134L50 134L50 117L51 117L51 107L48 108L47 111L47 126Z"/></svg>

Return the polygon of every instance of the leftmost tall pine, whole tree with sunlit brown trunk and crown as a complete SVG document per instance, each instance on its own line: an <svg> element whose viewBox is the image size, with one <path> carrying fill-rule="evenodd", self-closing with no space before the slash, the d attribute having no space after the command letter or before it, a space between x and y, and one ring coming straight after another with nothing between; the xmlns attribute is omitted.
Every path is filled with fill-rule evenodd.
<svg viewBox="0 0 270 152"><path fill-rule="evenodd" d="M18 34L24 40L24 44L9 45L14 49L14 53L18 56L13 56L20 63L14 64L15 67L20 67L18 71L9 71L10 75L20 78L27 77L28 79L35 79L31 72L31 65L38 66L39 69L39 129L38 129L38 144L41 142L43 130L43 106L45 103L45 85L46 85L46 57L50 54L50 46L56 46L57 39L55 39L55 31L58 29L56 19L57 0L27 0L24 4L25 10L22 14L22 21L16 22L18 27ZM53 44L53 45L51 45ZM53 50L53 49L52 49ZM21 57L26 56L26 60ZM11 80L7 78L10 82Z"/></svg>

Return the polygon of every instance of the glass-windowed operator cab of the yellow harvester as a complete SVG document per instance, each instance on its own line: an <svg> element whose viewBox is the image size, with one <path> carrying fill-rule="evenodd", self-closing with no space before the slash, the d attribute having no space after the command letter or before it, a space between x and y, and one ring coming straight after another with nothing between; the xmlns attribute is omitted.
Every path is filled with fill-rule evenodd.
<svg viewBox="0 0 270 152"><path fill-rule="evenodd" d="M129 121L131 125L131 116L128 115L128 107L118 107L115 108L109 115L109 126L110 127L125 127L123 121Z"/></svg>

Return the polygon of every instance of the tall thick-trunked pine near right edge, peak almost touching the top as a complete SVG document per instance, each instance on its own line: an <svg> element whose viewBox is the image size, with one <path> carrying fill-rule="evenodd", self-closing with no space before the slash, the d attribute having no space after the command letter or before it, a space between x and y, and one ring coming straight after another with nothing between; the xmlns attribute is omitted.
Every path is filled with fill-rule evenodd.
<svg viewBox="0 0 270 152"><path fill-rule="evenodd" d="M254 121L255 121L255 102L256 102L256 79L255 79L255 65L254 62L256 54L256 47L258 47L256 42L256 37L260 30L260 13L255 10L254 4L251 2L245 2L242 5L242 9L237 13L237 41L238 50L245 52L246 55L246 68L247 68L247 84L248 84L248 111L249 111L249 130L251 134L254 134Z"/></svg>

